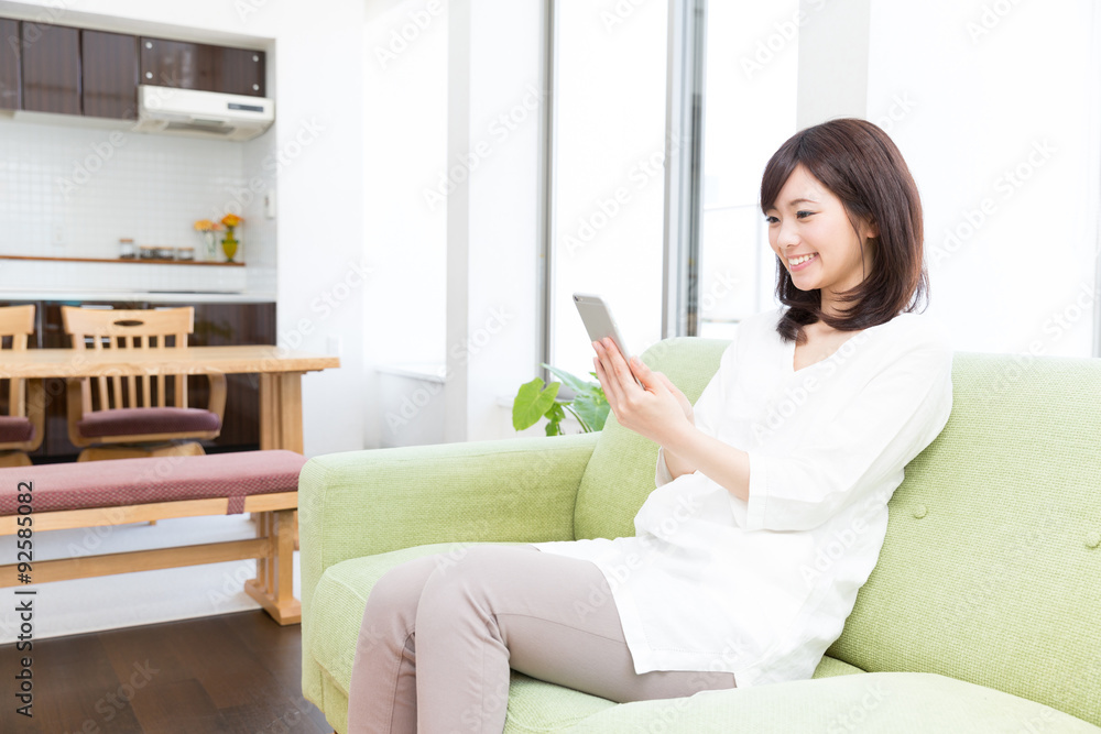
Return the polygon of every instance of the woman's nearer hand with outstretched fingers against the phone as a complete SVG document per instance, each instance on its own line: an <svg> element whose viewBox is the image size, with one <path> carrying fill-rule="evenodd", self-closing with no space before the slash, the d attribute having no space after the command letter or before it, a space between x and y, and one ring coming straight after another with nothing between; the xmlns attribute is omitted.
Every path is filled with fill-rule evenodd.
<svg viewBox="0 0 1101 734"><path fill-rule="evenodd" d="M597 380L621 426L664 445L684 423L693 424L691 403L668 377L636 357L628 364L611 338L592 342L592 348L597 351L592 360Z"/></svg>

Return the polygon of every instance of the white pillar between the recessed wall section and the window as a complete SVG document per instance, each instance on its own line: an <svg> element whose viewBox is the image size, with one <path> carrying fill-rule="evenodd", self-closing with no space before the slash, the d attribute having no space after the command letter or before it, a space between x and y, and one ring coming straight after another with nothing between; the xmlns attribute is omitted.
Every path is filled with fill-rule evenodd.
<svg viewBox="0 0 1101 734"><path fill-rule="evenodd" d="M468 92L466 99L449 94L450 118L466 114L468 139L449 141L448 160L486 151L470 173L467 211L457 217L467 226L466 262L448 259L448 289L465 281L465 288L456 289L467 293L465 319L449 319L447 330L448 368L458 376L466 365L465 430L449 415L451 440L515 436L511 404L501 406L498 398L514 396L538 369L539 121L546 109L542 4L471 0L470 74L458 84L451 77L451 92ZM450 55L450 63L457 62ZM455 213L451 209L448 216Z"/></svg>

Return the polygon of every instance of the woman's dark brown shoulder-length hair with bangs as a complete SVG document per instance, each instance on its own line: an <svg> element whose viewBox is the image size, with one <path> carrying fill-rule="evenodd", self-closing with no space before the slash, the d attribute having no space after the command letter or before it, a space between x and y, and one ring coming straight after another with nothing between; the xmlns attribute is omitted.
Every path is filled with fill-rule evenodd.
<svg viewBox="0 0 1101 734"><path fill-rule="evenodd" d="M869 221L877 226L879 235L869 238L875 248L872 272L839 294L844 303L855 302L840 318L822 313L821 291L796 288L776 259L776 297L789 307L776 327L784 341L802 344L806 341L803 327L819 320L841 331L859 331L916 310L923 299L927 304L922 200L902 153L887 134L855 118L830 120L795 133L765 166L761 211L773 208L798 165L841 199L854 231L859 232L858 221ZM864 243L860 247L863 261Z"/></svg>

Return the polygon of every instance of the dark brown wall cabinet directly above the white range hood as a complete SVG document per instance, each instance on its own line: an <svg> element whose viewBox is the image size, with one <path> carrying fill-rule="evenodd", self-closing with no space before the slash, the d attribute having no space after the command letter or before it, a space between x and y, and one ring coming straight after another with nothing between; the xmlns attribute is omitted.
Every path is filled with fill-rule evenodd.
<svg viewBox="0 0 1101 734"><path fill-rule="evenodd" d="M264 96L264 52L166 39L140 40L141 84Z"/></svg>

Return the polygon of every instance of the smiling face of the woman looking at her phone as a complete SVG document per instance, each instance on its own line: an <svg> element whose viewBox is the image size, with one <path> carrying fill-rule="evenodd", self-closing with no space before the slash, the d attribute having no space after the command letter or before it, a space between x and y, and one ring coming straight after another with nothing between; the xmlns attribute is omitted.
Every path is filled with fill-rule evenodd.
<svg viewBox="0 0 1101 734"><path fill-rule="evenodd" d="M795 287L821 289L822 309L840 315L841 308L831 307L838 305L835 294L857 286L872 272L873 250L864 248L862 266L860 245L876 237L877 229L862 222L861 231L853 231L841 200L802 165L787 177L765 216L768 244Z"/></svg>

